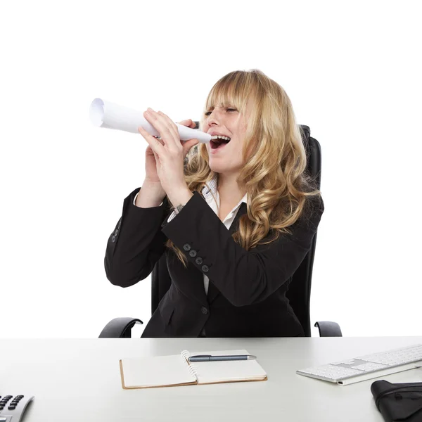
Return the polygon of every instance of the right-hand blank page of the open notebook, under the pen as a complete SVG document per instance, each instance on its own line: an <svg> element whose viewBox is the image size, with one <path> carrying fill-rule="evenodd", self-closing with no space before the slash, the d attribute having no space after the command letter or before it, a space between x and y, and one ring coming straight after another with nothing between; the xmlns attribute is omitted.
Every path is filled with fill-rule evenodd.
<svg viewBox="0 0 422 422"><path fill-rule="evenodd" d="M213 350L212 352L190 352L195 354L250 354L247 350ZM234 381L264 381L267 373L257 360L192 362L198 384L224 383Z"/></svg>

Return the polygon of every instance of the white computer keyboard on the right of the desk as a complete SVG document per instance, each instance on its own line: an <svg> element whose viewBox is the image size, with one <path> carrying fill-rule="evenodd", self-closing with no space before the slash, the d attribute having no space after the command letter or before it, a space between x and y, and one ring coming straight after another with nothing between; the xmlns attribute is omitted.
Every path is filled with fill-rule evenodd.
<svg viewBox="0 0 422 422"><path fill-rule="evenodd" d="M421 361L419 364L416 362ZM327 365L300 369L299 375L310 376L340 385L378 378L422 366L422 345L401 347L387 352L366 354L366 356L343 359Z"/></svg>

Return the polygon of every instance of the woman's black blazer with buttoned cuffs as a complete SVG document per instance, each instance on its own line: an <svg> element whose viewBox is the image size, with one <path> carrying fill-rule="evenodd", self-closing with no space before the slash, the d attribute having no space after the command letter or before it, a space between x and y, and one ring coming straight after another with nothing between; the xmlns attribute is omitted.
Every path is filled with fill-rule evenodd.
<svg viewBox="0 0 422 422"><path fill-rule="evenodd" d="M170 223L167 197L160 207L134 205L133 191L123 203L122 217L107 243L104 264L108 280L132 286L146 279L155 262L166 254L170 289L143 331L142 337L295 337L304 331L286 298L291 276L311 247L324 212L322 198L311 200L307 217L268 245L250 251L231 234L246 210L242 203L230 229L206 203L193 197ZM267 239L272 236L267 236ZM170 238L184 251L188 268L165 247ZM203 274L210 279L208 294Z"/></svg>

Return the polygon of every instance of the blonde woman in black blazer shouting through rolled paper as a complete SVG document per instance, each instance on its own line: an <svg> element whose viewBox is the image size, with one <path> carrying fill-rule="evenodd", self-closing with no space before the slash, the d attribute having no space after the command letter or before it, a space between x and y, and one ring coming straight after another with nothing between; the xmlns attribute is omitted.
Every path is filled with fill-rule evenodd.
<svg viewBox="0 0 422 422"><path fill-rule="evenodd" d="M128 287L166 255L172 284L142 336L303 336L286 291L324 204L286 92L259 70L222 77L200 122L206 144L182 145L169 117L144 116L160 139L139 128L146 178L105 258L108 280Z"/></svg>

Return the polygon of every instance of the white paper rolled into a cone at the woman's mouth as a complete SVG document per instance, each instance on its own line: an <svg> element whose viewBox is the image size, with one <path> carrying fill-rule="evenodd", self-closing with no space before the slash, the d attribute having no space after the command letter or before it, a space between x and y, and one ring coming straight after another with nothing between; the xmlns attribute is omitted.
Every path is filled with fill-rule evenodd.
<svg viewBox="0 0 422 422"><path fill-rule="evenodd" d="M141 126L149 134L160 136L152 124L143 117L142 112L110 103L110 101L103 101L101 98L95 98L92 101L89 108L89 117L96 127L106 127L108 129L124 130L125 132L139 134L138 127ZM198 129L191 129L179 123L176 123L176 125L179 129L181 141L196 138L200 142L207 143L211 140L211 135L205 132L201 132Z"/></svg>

